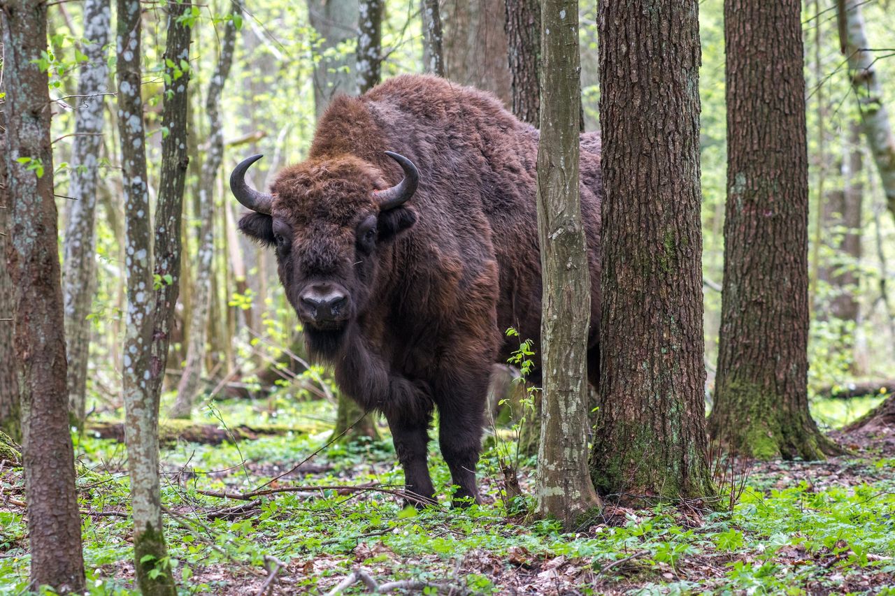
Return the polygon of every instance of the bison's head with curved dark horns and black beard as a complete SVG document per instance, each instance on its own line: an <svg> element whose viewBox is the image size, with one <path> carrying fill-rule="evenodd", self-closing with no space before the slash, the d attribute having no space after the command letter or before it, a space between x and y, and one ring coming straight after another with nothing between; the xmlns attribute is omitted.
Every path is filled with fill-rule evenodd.
<svg viewBox="0 0 895 596"><path fill-rule="evenodd" d="M302 320L311 350L337 353L345 329L362 316L377 290L378 251L413 226L406 205L419 182L411 161L386 152L404 179L384 188L379 168L354 156L309 159L277 175L266 194L245 183L258 161L245 159L230 176L230 189L251 209L240 230L274 247L280 281Z"/></svg>

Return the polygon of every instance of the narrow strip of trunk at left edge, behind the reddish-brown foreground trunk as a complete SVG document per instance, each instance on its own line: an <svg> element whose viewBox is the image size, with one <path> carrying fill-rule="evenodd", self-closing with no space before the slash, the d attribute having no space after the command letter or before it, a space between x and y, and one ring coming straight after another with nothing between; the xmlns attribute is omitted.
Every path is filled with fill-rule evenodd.
<svg viewBox="0 0 895 596"><path fill-rule="evenodd" d="M0 44L4 43L4 21L0 19ZM2 50L0 50L2 51ZM6 90L0 81L0 93ZM0 99L0 148L6 148L6 118L4 100ZM6 266L9 251L9 213L12 209L9 187L6 185L6 160L0 158L0 431L21 441L21 413L19 408L19 379L15 367L13 345L13 281Z"/></svg>

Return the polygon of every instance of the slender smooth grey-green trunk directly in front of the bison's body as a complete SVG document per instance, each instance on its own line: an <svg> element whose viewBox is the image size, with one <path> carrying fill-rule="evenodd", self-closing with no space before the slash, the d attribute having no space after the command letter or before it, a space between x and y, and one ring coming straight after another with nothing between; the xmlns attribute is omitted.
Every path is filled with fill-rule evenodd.
<svg viewBox="0 0 895 596"><path fill-rule="evenodd" d="M578 0L544 0L538 145L543 271L541 443L537 514L567 529L600 500L587 469L587 336L591 278L578 190Z"/></svg>

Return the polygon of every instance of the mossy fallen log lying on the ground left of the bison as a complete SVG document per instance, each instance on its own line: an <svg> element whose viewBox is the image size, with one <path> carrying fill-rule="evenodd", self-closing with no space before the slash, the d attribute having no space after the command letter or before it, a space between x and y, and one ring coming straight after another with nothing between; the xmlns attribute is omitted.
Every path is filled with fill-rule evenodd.
<svg viewBox="0 0 895 596"><path fill-rule="evenodd" d="M220 445L221 443L240 440L253 440L265 435L285 435L295 429L288 426L260 425L222 428L217 424L194 424L190 421L163 420L158 421L158 442L162 444L184 440L203 445ZM112 438L124 442L124 423L118 421L90 422L86 432L96 438Z"/></svg>

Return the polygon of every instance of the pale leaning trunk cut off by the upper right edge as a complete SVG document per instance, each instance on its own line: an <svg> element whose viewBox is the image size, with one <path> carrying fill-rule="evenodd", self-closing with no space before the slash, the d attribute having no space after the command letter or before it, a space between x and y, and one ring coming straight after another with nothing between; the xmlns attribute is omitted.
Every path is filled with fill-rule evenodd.
<svg viewBox="0 0 895 596"><path fill-rule="evenodd" d="M861 129L880 174L886 206L895 217L895 135L892 134L889 111L882 104L877 58L867 41L861 4L864 4L863 0L838 0L840 22L845 24L845 30L840 26L840 36L846 34L845 39L840 38L840 46L848 59L851 88L861 114ZM843 11L844 20L841 19Z"/></svg>

